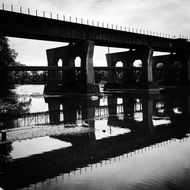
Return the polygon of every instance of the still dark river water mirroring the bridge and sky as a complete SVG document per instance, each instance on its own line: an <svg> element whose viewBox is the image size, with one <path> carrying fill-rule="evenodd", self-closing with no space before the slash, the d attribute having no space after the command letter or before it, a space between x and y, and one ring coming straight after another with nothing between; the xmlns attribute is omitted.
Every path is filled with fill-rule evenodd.
<svg viewBox="0 0 190 190"><path fill-rule="evenodd" d="M0 101L3 189L190 189L188 94L14 93Z"/></svg>

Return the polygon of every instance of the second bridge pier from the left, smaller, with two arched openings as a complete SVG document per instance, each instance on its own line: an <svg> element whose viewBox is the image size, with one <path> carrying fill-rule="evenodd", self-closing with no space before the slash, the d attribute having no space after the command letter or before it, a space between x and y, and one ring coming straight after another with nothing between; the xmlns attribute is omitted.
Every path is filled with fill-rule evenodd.
<svg viewBox="0 0 190 190"><path fill-rule="evenodd" d="M124 89L141 88L148 90L158 88L158 84L153 81L153 51L150 47L141 47L136 50L106 54L109 67L115 67L118 61L123 63L123 78L121 81L122 84L119 87L121 86ZM142 68L135 68L135 60L142 61ZM118 73L116 70L112 71L110 75L110 86L112 87L114 87L114 84L111 83L118 83ZM109 88L109 84L107 88Z"/></svg>

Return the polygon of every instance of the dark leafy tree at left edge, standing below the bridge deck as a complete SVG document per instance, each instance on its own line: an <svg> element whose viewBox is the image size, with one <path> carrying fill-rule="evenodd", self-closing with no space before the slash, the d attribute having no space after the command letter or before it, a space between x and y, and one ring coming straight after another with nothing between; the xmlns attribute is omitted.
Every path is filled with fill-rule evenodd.
<svg viewBox="0 0 190 190"><path fill-rule="evenodd" d="M10 48L8 38L0 36L0 94L10 87L10 77L5 69L7 66L16 65L17 55L17 52Z"/></svg>

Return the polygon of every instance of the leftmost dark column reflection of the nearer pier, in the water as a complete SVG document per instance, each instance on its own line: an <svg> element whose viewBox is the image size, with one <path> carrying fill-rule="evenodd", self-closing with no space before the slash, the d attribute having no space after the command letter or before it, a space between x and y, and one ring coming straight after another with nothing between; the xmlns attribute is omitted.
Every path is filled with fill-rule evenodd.
<svg viewBox="0 0 190 190"><path fill-rule="evenodd" d="M60 123L60 103L59 102L48 102L49 108L49 121L50 124Z"/></svg>

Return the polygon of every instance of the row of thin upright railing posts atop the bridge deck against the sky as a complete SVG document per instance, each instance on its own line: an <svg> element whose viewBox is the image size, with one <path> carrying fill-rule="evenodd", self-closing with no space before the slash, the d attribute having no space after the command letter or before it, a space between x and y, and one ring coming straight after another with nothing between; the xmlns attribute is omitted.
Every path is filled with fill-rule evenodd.
<svg viewBox="0 0 190 190"><path fill-rule="evenodd" d="M55 19L55 20L60 20L60 21L72 22L72 23L77 23L77 24L107 28L107 29L112 29L112 30L144 34L144 35L155 36L155 37L162 37L162 38L169 38L169 39L181 38L181 39L186 39L188 41L190 40L188 35L180 34L179 36L176 36L176 35L171 35L167 33L137 29L134 27L119 26L117 24L110 24L110 23L83 19L83 18L78 18L78 17L71 17L65 14L58 14L58 13L54 14L53 12L48 12L48 11L39 10L39 9L25 8L23 6L16 6L12 4L10 5L10 4L1 3L0 10L11 11L11 12L16 12L16 13L21 13L21 14L49 18L49 19Z"/></svg>

